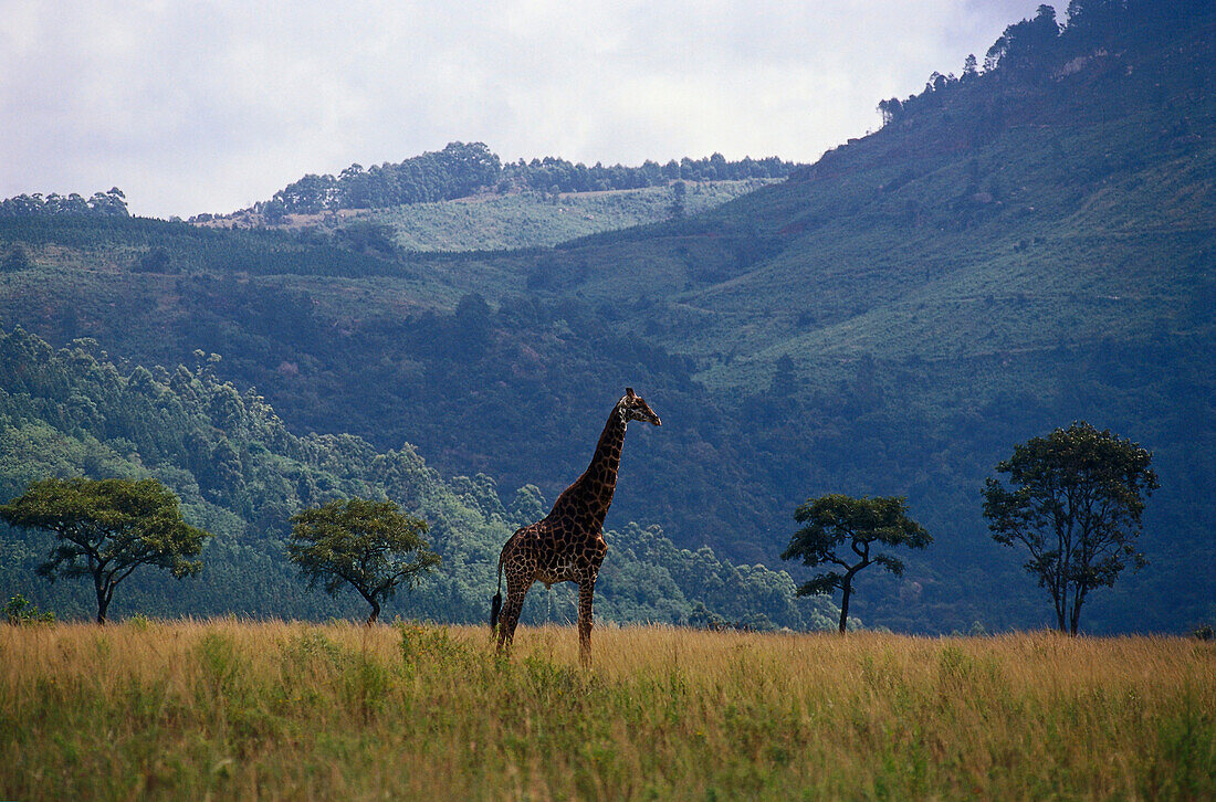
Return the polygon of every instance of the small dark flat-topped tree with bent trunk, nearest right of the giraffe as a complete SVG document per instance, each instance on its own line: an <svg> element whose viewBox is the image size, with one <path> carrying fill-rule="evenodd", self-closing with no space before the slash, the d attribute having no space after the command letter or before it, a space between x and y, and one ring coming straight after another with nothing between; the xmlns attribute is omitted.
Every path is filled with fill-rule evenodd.
<svg viewBox="0 0 1216 802"><path fill-rule="evenodd" d="M781 559L801 558L804 565L835 565L798 588L798 595L831 594L841 591L840 633L849 621L849 597L852 578L862 569L882 565L899 576L903 563L877 550L880 546L924 548L933 542L924 529L908 518L907 501L899 496L852 498L833 493L807 499L794 512L794 519L805 524L781 553ZM846 548L848 547L848 548Z"/></svg>

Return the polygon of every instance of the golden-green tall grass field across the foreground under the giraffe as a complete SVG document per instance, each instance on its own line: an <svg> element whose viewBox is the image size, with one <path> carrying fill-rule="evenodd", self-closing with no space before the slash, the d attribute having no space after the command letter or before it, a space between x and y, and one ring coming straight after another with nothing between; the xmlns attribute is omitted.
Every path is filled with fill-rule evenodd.
<svg viewBox="0 0 1216 802"><path fill-rule="evenodd" d="M0 627L0 797L1212 798L1216 646Z"/></svg>

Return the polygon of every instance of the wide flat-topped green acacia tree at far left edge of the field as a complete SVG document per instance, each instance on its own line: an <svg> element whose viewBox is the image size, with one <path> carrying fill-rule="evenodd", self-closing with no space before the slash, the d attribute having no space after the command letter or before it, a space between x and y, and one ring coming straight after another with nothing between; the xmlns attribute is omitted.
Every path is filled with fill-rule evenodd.
<svg viewBox="0 0 1216 802"><path fill-rule="evenodd" d="M141 565L168 569L175 578L198 574L208 532L181 519L178 497L156 479L44 479L0 506L0 519L22 529L45 529L57 538L38 574L91 577L97 623L114 588Z"/></svg>

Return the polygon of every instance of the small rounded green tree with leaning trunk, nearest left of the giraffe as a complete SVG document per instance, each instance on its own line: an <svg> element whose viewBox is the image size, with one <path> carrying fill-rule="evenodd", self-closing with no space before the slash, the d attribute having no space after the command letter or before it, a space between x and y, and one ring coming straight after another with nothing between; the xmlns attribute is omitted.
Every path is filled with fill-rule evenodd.
<svg viewBox="0 0 1216 802"><path fill-rule="evenodd" d="M390 501L332 501L293 516L292 525L287 554L309 587L323 581L326 593L337 595L349 584L371 605L367 626L398 584L412 587L440 559L422 540L427 523Z"/></svg>

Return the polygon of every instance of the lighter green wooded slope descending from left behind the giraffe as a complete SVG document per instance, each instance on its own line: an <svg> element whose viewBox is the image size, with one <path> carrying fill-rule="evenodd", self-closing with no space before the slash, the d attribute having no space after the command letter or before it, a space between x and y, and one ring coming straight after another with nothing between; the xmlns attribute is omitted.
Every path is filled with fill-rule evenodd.
<svg viewBox="0 0 1216 802"><path fill-rule="evenodd" d="M409 444L377 452L351 435L292 435L261 396L220 382L219 363L199 351L192 367L148 369L111 361L94 340L55 351L23 331L0 333L0 496L49 475L154 476L181 497L186 519L214 537L201 578L175 582L145 569L116 595L120 615L305 619L351 615L359 602L305 592L283 550L288 519L333 498L388 497L429 523L444 563L387 611L460 622L488 616L499 548L547 512L535 486L503 503L489 476L445 482ZM827 602L796 600L784 571L736 566L709 548L679 549L658 526L629 523L606 538L612 560L601 574L601 621L807 629L833 615ZM49 586L34 576L51 547L47 533L5 529L0 588L6 599L21 593L60 616L85 617L86 583ZM525 620L574 616L562 586L537 586L530 598Z"/></svg>

